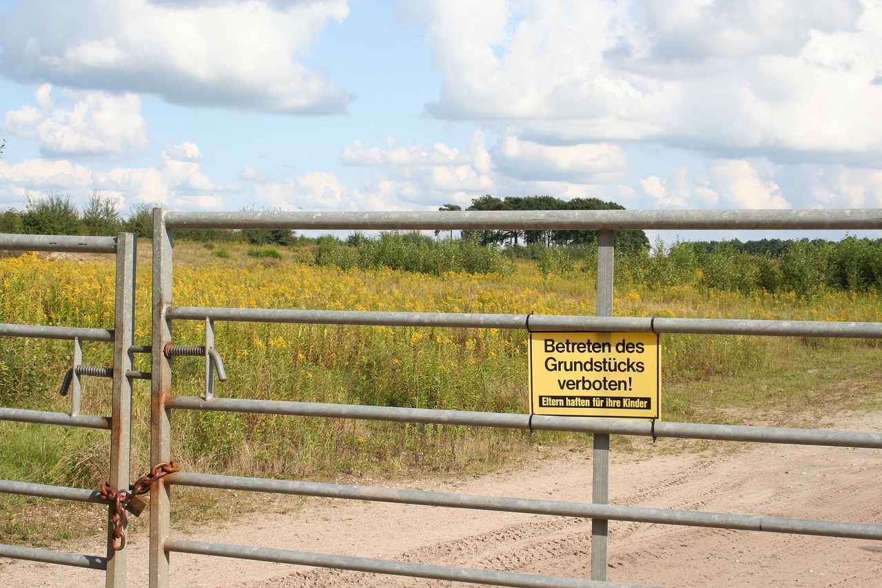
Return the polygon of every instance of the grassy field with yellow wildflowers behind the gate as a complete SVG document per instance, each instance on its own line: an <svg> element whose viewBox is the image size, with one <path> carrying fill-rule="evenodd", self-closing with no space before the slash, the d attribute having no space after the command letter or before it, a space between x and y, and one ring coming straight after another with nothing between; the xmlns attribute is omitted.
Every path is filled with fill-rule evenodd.
<svg viewBox="0 0 882 588"><path fill-rule="evenodd" d="M139 248L136 343L149 344L149 243ZM217 249L184 243L176 248L175 303L594 314L594 275L554 256L539 262L512 261L505 271L488 275L426 275L316 265L312 253L300 248L263 251L275 253L249 251L245 245ZM691 274L674 279L664 274L673 272L673 265L661 262L675 253L643 260L644 265L623 260L617 315L882 320L875 288L843 290L818 284L797 292L726 287L721 279L709 283L706 268L691 268ZM650 261L655 264L651 271L646 269ZM737 266L729 271L744 275ZM109 260L6 257L0 259L0 283L2 322L112 327L114 267ZM203 328L197 322L176 323L174 333L176 344L203 343ZM229 375L227 382L217 384L217 396L527 411L524 331L221 323L215 337ZM829 414L878 408L882 400L878 341L665 335L662 345L665 420L813 426ZM0 403L68 411L69 400L57 390L70 366L71 351L67 342L0 339ZM108 345L86 345L84 363L103 366L110 359ZM149 371L146 357L136 361L136 369ZM202 371L201 358L176 358L176 393L201 395ZM107 381L84 382L84 412L108 414ZM149 384L137 381L132 469L138 473L149 465L149 396ZM584 436L551 433L190 412L176 413L174 435L172 455L189 471L290 479L396 477L413 471L479 473L525 449L563 444L579 450L590 442ZM97 487L106 476L106 436L0 423L0 478ZM671 447L694 449L687 445ZM625 438L615 439L614 449L636 450ZM196 518L213 516L213 507L222 500L187 494L184 499L181 508L190 509ZM0 540L40 545L78 533L66 516L34 516L45 511L38 501L6 495L0 501ZM87 508L83 520L97 528L101 509Z"/></svg>

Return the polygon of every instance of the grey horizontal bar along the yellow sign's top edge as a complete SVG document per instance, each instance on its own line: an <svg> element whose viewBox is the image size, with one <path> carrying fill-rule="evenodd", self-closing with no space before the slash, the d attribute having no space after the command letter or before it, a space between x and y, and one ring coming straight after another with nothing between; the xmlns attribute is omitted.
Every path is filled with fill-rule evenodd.
<svg viewBox="0 0 882 588"><path fill-rule="evenodd" d="M326 325L394 327L528 328L531 331L622 331L698 333L702 335L772 335L882 338L882 322L815 320L664 319L628 316L543 314L398 313L272 308L169 306L179 320L229 320Z"/></svg>

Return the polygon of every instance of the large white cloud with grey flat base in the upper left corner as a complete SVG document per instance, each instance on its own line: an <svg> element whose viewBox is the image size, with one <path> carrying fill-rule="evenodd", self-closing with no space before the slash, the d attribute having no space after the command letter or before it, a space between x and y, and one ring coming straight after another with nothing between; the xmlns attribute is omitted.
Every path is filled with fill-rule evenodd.
<svg viewBox="0 0 882 588"><path fill-rule="evenodd" d="M0 71L21 81L157 94L168 102L295 114L355 96L299 59L345 0L20 3L0 19Z"/></svg>

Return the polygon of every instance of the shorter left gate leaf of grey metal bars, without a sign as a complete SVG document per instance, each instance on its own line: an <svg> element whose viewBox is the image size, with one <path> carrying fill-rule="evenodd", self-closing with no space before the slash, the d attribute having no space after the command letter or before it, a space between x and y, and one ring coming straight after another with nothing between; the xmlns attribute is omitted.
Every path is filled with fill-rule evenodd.
<svg viewBox="0 0 882 588"><path fill-rule="evenodd" d="M41 251L63 253L110 253L116 255L116 304L114 328L71 328L59 326L0 324L0 336L62 339L74 343L74 366L71 367L71 412L33 411L11 407L0 408L0 420L39 423L45 425L78 426L110 431L110 463L108 483L113 488L129 487L131 443L131 379L144 374L131 370L134 336L135 304L135 249L136 239L131 233L116 237L68 237L48 235L0 235L0 249L11 251ZM113 343L112 414L109 417L79 414L79 371L81 342ZM66 393L66 390L65 390ZM42 498L107 504L98 490L50 486L12 480L0 480L0 492ZM113 549L113 507L108 506L107 555L71 554L34 547L0 545L0 556L35 562L58 563L79 568L105 570L107 588L125 585L125 548Z"/></svg>

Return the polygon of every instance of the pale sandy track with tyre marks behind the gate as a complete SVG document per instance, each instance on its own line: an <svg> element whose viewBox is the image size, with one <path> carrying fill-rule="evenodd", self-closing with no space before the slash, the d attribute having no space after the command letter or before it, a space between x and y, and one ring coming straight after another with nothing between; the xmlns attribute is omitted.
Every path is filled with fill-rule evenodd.
<svg viewBox="0 0 882 588"><path fill-rule="evenodd" d="M834 420L836 428L882 431L882 412ZM610 501L670 509L882 523L882 451L742 444L668 452L660 439L614 452ZM347 480L352 483L353 480ZM365 486L378 480L358 479ZM590 501L590 452L549 451L518 467L463 479L400 484L422 490ZM293 499L292 499L293 500ZM209 525L184 539L401 559L472 568L590 577L587 520L310 499L276 502L261 515ZM290 504L293 504L291 502ZM829 539L610 522L610 582L662 586L882 586L882 541ZM131 586L146 586L146 521L133 525ZM94 547L84 553L100 553ZM172 554L171 585L465 586L360 572ZM102 586L103 573L34 562L0 566L2 586Z"/></svg>

